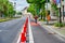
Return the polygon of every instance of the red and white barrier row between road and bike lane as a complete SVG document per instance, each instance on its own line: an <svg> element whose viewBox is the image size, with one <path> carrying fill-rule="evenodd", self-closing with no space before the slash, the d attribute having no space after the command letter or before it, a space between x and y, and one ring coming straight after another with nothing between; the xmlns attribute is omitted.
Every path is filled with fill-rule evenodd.
<svg viewBox="0 0 65 43"><path fill-rule="evenodd" d="M25 25L23 27L23 32L21 33L21 43L26 43L27 25L28 25L28 17L26 18Z"/></svg>

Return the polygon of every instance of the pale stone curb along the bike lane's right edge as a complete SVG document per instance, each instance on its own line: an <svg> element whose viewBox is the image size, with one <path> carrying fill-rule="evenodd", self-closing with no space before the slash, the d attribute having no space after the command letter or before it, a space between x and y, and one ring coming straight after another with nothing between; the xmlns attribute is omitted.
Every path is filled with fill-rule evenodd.
<svg viewBox="0 0 65 43"><path fill-rule="evenodd" d="M63 34L61 34L60 32L57 32L56 30L54 30L54 29L52 29L52 27L49 27L49 26L47 26L47 25L41 25L40 23L38 23L41 27L46 27L46 29L49 31L49 32L53 32L53 33L56 33L57 34L57 37L60 37L60 39L61 40L63 40L63 41L65 41L65 35L63 35Z"/></svg>

